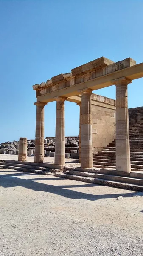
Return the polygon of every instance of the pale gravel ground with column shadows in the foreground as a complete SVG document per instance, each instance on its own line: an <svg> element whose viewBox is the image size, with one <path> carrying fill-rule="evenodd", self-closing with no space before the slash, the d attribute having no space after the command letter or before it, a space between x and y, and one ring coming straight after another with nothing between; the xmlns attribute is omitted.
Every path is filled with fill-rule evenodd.
<svg viewBox="0 0 143 256"><path fill-rule="evenodd" d="M0 256L33 255L142 256L143 193L0 169Z"/></svg>

